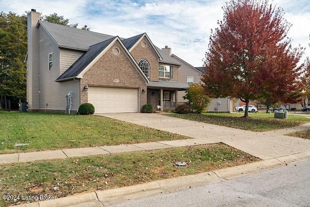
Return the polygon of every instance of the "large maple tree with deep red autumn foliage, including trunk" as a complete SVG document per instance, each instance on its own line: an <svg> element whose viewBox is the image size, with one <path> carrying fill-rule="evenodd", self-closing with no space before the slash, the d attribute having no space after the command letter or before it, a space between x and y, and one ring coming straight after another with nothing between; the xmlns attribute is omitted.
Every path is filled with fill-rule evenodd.
<svg viewBox="0 0 310 207"><path fill-rule="evenodd" d="M303 48L292 48L291 25L268 0L232 0L223 10L223 21L210 35L202 81L208 94L240 98L248 117L250 100L280 101L298 90Z"/></svg>

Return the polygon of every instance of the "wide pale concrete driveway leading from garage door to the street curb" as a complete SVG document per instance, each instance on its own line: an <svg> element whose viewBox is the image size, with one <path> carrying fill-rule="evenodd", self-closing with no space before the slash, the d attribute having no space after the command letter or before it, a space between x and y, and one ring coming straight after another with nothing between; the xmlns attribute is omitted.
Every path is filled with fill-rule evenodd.
<svg viewBox="0 0 310 207"><path fill-rule="evenodd" d="M260 159L273 159L297 153L308 154L310 140L285 136L289 132L310 129L310 124L267 132L251 132L205 124L162 115L160 113L96 114L145 127L164 130L210 143L222 142Z"/></svg>

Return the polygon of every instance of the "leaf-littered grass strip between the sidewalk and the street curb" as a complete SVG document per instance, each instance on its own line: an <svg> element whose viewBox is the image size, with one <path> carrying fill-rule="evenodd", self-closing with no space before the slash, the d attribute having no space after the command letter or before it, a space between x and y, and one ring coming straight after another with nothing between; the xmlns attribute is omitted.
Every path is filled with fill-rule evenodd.
<svg viewBox="0 0 310 207"><path fill-rule="evenodd" d="M222 143L171 149L0 164L0 194L64 197L193 175L260 159ZM187 166L176 166L184 161ZM20 204L3 201L0 206Z"/></svg>

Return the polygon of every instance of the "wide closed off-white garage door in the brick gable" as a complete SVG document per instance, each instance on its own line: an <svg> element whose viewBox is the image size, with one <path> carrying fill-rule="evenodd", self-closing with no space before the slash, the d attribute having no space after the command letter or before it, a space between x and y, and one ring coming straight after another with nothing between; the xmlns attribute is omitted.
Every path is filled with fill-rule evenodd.
<svg viewBox="0 0 310 207"><path fill-rule="evenodd" d="M138 112L138 91L132 88L89 86L88 102L95 113Z"/></svg>

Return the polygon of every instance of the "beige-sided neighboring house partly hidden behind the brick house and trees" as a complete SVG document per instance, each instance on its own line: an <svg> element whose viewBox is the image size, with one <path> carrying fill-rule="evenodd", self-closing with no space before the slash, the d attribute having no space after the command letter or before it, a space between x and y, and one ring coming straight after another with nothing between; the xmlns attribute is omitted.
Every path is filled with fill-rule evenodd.
<svg viewBox="0 0 310 207"><path fill-rule="evenodd" d="M192 83L202 82L201 78L204 74L204 67L194 67L191 64L186 63L184 60L178 56L171 54L171 48L166 46L162 48L163 51L167 51L168 54L180 65L179 67L179 81L190 85ZM183 99L185 96L185 91L178 93L178 100ZM217 111L217 112L232 112L233 111L233 100L231 98L213 98L211 99L208 111Z"/></svg>

